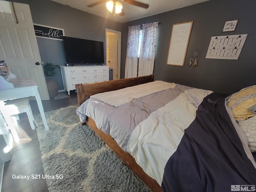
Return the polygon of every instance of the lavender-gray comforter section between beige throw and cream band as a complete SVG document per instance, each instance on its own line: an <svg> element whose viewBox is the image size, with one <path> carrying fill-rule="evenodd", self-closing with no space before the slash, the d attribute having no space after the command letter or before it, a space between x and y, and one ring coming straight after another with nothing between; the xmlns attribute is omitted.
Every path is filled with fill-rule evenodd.
<svg viewBox="0 0 256 192"><path fill-rule="evenodd" d="M127 143L134 128L148 118L152 112L165 106L190 88L176 84L173 89L133 99L119 107L113 107L96 98L90 98L76 112L82 123L85 122L86 117L92 118L99 130L111 135L119 146L127 151Z"/></svg>

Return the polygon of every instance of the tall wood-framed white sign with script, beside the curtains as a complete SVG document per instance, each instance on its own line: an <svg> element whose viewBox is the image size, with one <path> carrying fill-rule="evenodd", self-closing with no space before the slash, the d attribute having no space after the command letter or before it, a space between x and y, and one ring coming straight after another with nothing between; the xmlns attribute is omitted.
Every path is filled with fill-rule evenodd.
<svg viewBox="0 0 256 192"><path fill-rule="evenodd" d="M193 21L172 25L167 65L184 66Z"/></svg>

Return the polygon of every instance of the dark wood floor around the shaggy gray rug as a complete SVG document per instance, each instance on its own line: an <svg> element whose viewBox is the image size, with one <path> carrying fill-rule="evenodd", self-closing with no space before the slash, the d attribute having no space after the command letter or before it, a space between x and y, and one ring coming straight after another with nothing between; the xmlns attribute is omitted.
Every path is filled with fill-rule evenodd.
<svg viewBox="0 0 256 192"><path fill-rule="evenodd" d="M76 92L68 98L42 101L44 112L77 104ZM36 101L30 101L33 115L39 114ZM2 192L48 192L45 179L31 179L32 174L42 175L44 169L36 130L32 130L26 113L20 114L16 126L19 143L13 143L12 159L4 164ZM30 179L14 179L13 175L30 176ZM1 190L0 190L1 191Z"/></svg>

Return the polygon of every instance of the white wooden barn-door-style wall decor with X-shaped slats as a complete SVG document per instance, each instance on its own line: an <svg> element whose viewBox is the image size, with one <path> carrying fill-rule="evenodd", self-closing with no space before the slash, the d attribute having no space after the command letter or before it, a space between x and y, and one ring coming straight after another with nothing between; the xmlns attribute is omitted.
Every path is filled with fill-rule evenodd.
<svg viewBox="0 0 256 192"><path fill-rule="evenodd" d="M238 60L247 34L213 36L205 58Z"/></svg>

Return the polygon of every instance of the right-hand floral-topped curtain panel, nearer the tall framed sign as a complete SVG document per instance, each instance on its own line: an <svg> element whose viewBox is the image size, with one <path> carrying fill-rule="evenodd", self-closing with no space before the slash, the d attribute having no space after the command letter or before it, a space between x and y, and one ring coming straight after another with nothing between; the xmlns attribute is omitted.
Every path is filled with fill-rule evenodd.
<svg viewBox="0 0 256 192"><path fill-rule="evenodd" d="M143 24L142 28L138 76L153 74L158 22Z"/></svg>

